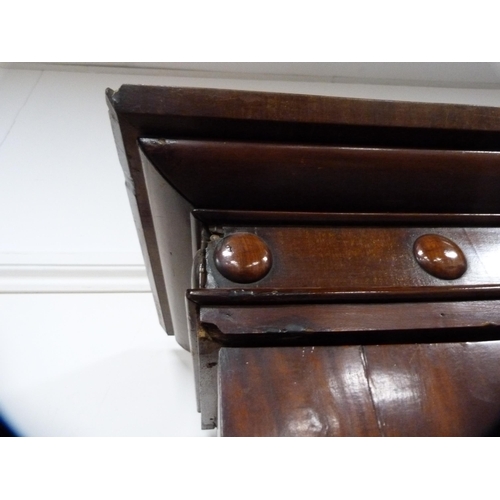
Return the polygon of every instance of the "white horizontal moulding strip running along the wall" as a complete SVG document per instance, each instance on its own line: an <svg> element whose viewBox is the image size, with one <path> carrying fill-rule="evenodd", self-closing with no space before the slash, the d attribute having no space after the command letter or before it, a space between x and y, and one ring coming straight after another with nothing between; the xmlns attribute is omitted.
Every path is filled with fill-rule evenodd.
<svg viewBox="0 0 500 500"><path fill-rule="evenodd" d="M0 265L0 293L151 292L141 265Z"/></svg>

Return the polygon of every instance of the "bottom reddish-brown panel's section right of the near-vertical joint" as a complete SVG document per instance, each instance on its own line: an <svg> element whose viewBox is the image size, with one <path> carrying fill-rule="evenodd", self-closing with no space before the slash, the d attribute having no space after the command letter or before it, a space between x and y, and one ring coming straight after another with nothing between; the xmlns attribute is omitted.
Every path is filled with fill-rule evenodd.
<svg viewBox="0 0 500 500"><path fill-rule="evenodd" d="M500 430L500 342L367 346L364 352L384 435Z"/></svg>

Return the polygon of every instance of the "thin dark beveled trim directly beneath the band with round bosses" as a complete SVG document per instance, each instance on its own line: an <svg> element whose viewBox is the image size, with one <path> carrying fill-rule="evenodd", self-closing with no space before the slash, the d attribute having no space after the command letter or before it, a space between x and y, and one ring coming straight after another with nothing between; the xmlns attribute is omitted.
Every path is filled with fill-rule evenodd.
<svg viewBox="0 0 500 500"><path fill-rule="evenodd" d="M346 288L199 288L186 293L199 305L273 305L374 302L453 302L499 300L500 284Z"/></svg>

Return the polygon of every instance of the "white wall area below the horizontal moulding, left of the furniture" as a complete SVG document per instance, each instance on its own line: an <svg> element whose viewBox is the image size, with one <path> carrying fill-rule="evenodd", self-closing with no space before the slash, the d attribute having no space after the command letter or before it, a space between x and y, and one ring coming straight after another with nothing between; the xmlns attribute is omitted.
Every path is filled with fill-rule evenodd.
<svg viewBox="0 0 500 500"><path fill-rule="evenodd" d="M214 436L143 294L0 295L0 409L24 435Z"/></svg>

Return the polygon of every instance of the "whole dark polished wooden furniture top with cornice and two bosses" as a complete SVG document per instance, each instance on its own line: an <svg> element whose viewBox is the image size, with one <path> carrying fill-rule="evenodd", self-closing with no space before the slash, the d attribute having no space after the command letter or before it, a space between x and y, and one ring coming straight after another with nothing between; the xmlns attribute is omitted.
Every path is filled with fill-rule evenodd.
<svg viewBox="0 0 500 500"><path fill-rule="evenodd" d="M500 109L133 85L107 99L203 428L494 433ZM235 246L259 272L224 261L238 233L265 242Z"/></svg>

